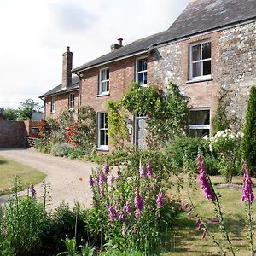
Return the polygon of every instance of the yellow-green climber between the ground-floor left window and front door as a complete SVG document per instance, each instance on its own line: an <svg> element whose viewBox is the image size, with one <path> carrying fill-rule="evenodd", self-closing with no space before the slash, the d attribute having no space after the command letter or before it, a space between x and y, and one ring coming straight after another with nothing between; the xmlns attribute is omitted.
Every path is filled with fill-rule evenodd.
<svg viewBox="0 0 256 256"><path fill-rule="evenodd" d="M126 129L125 108L120 102L107 102L108 108L108 137L114 148L123 148L128 137Z"/></svg>

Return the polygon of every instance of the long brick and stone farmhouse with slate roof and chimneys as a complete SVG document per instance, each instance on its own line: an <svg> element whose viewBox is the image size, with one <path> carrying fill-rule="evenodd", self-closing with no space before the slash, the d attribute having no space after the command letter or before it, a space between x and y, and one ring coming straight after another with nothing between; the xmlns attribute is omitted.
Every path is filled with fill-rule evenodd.
<svg viewBox="0 0 256 256"><path fill-rule="evenodd" d="M243 122L256 84L256 1L194 0L164 32L125 46L119 38L110 53L73 70L72 56L67 48L62 83L41 96L44 115L90 105L97 113L98 150L109 149L106 102L119 101L133 81L144 87L177 84L189 97L189 134L210 134L221 89L230 96L228 113ZM145 120L134 117L129 124L139 147Z"/></svg>

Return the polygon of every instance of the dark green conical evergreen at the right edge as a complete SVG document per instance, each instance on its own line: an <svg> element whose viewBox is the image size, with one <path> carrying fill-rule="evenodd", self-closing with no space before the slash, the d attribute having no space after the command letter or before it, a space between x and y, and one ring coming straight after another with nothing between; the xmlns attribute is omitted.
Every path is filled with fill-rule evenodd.
<svg viewBox="0 0 256 256"><path fill-rule="evenodd" d="M241 148L244 160L254 172L256 171L256 86L250 91L247 103L246 121L243 128Z"/></svg>

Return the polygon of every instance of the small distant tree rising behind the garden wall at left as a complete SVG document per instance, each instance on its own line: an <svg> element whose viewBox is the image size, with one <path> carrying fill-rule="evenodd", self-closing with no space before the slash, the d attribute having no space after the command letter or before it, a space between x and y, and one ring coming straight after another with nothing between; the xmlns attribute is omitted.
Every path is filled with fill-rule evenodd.
<svg viewBox="0 0 256 256"><path fill-rule="evenodd" d="M42 106L32 99L27 99L25 102L20 102L20 107L17 109L19 120L31 119L32 113L38 113L41 108Z"/></svg>

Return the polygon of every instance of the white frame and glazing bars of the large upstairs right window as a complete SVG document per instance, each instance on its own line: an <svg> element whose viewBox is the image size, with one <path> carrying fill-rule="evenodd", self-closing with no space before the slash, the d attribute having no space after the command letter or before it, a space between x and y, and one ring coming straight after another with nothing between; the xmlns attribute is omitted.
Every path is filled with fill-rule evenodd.
<svg viewBox="0 0 256 256"><path fill-rule="evenodd" d="M202 44L211 43L211 58L202 59ZM201 58L199 61L192 61L192 47L195 45L201 45ZM204 80L204 79L212 79L212 70L211 74L203 75L203 62L204 61L211 61L211 68L212 68L212 41L211 40L205 40L201 42L196 42L193 44L189 44L189 80ZM201 63L201 76L193 77L193 64L194 63Z"/></svg>

